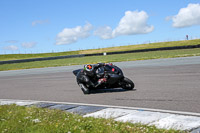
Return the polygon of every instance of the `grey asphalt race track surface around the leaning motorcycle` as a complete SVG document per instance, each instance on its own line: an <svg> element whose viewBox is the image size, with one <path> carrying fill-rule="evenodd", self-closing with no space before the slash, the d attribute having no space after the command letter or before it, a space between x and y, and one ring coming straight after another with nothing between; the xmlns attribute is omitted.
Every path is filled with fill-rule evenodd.
<svg viewBox="0 0 200 133"><path fill-rule="evenodd" d="M200 56L114 63L134 81L84 95L72 70L83 66L0 72L0 99L88 103L200 113Z"/></svg>

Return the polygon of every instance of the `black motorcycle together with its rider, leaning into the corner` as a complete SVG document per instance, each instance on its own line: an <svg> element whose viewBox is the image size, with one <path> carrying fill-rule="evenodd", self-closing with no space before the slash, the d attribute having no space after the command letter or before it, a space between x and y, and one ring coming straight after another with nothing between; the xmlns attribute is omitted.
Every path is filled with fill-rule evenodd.
<svg viewBox="0 0 200 133"><path fill-rule="evenodd" d="M84 94L98 88L117 88L133 90L134 83L124 77L120 68L112 63L98 63L84 65L84 69L73 71L77 78L77 83Z"/></svg>

